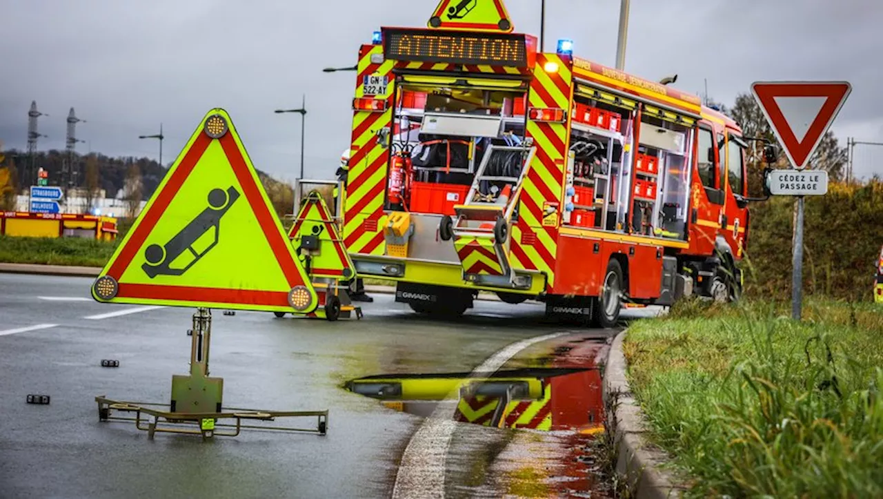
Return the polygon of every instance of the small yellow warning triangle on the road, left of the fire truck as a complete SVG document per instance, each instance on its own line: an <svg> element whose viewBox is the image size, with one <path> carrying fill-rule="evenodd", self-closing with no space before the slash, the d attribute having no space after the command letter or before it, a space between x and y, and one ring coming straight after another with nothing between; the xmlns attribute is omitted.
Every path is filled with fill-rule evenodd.
<svg viewBox="0 0 883 499"><path fill-rule="evenodd" d="M308 275L337 280L355 276L343 238L318 191L306 195L288 237Z"/></svg>

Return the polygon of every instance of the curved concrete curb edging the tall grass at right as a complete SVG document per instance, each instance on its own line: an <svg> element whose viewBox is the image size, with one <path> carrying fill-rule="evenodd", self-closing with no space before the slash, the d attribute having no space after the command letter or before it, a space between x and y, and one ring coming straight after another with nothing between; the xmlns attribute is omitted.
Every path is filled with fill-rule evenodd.
<svg viewBox="0 0 883 499"><path fill-rule="evenodd" d="M619 333L610 345L604 370L604 402L608 407L609 427L614 431L616 473L636 492L638 499L681 497L686 487L679 485L674 473L660 467L670 458L645 438L648 424L626 380L623 337Z"/></svg>

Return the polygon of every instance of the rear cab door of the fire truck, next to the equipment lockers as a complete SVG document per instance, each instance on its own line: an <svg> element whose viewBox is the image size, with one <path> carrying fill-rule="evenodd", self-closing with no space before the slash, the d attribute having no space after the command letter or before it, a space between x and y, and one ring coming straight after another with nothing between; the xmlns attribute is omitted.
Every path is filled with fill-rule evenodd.
<svg viewBox="0 0 883 499"><path fill-rule="evenodd" d="M697 171L692 186L690 253L709 255L721 227L724 192L721 188L721 154L711 125L698 129ZM722 137L722 135L721 135Z"/></svg>

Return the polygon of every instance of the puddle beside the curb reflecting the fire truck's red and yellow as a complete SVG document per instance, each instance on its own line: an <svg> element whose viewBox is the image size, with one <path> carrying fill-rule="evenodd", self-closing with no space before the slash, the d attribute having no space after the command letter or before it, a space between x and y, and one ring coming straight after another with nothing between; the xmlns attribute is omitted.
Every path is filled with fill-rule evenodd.
<svg viewBox="0 0 883 499"><path fill-rule="evenodd" d="M493 488L527 497L606 496L612 494L610 480L598 458L604 403L595 361L601 346L575 339L556 344L540 359L514 362L549 367L493 374L379 374L351 380L345 388L421 417L445 404L452 418L464 423L464 431L476 426L487 427L482 431L523 430L509 434L505 449L493 456L449 456L450 463L481 461L472 467L489 472L481 473L485 476L479 482L484 483L472 492L493 495L487 490ZM487 433L474 435L470 438L479 442L483 436L488 442L493 438Z"/></svg>

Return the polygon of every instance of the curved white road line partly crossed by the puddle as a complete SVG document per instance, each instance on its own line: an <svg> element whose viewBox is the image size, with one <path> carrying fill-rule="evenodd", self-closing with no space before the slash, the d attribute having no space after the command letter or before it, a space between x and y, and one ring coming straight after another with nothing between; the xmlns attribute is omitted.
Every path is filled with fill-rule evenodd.
<svg viewBox="0 0 883 499"><path fill-rule="evenodd" d="M479 373L495 373L509 359L532 344L568 334L570 333L561 332L534 336L510 344L476 367L470 377L476 377ZM396 484L392 489L394 498L444 497L445 459L448 457L451 436L454 435L454 428L457 427L457 421L454 420L457 411L457 393L449 394L448 398L453 400L449 403L439 403L433 413L423 420L417 432L411 436L408 446L405 447L402 463L396 473Z"/></svg>

